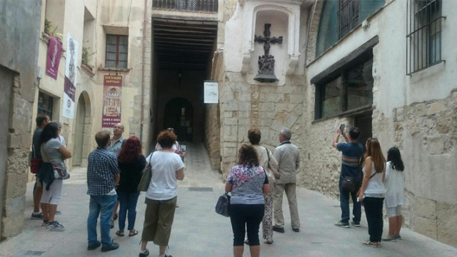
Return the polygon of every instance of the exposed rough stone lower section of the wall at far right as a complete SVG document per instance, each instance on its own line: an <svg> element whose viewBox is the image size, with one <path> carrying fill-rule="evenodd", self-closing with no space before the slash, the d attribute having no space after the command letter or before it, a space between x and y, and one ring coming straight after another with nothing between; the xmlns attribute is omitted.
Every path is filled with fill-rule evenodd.
<svg viewBox="0 0 457 257"><path fill-rule="evenodd" d="M457 89L392 112L394 145L406 163L405 224L457 246Z"/></svg>

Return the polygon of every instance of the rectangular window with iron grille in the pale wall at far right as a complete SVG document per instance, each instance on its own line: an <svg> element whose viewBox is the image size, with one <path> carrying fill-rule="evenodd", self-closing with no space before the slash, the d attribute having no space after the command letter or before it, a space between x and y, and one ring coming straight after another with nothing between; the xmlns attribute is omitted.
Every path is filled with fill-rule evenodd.
<svg viewBox="0 0 457 257"><path fill-rule="evenodd" d="M441 0L408 0L406 74L439 64L441 56Z"/></svg>

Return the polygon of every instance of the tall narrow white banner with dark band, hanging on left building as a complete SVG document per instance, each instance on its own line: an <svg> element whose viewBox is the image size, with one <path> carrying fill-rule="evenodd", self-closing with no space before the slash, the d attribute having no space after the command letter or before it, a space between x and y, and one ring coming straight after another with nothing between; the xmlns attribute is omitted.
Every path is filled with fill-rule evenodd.
<svg viewBox="0 0 457 257"><path fill-rule="evenodd" d="M74 119L74 94L76 92L76 65L78 61L78 41L68 34L66 38L66 61L64 82L64 104L62 116Z"/></svg>

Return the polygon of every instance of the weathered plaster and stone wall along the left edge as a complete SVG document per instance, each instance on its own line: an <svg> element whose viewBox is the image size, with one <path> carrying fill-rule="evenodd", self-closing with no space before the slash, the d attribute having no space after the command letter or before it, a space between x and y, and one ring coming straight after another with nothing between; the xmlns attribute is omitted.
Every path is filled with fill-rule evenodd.
<svg viewBox="0 0 457 257"><path fill-rule="evenodd" d="M7 119L7 151L0 171L1 224L0 240L16 236L24 226L24 205L28 171L28 155L31 146L32 104L37 82L36 62L38 59L41 1L18 4L2 1L0 17L0 66L2 93L9 98ZM6 69L4 68L6 67ZM6 82L8 80L9 82ZM8 94L11 92L11 94ZM3 110L3 109L2 109ZM6 110L4 110L6 111Z"/></svg>

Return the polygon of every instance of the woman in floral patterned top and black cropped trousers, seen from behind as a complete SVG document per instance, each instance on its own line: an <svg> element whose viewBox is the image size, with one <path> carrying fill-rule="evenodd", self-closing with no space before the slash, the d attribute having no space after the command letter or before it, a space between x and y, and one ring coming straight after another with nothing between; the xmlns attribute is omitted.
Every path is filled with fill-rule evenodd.
<svg viewBox="0 0 457 257"><path fill-rule="evenodd" d="M269 191L266 173L261 166L258 166L256 149L250 144L243 144L239 151L238 165L231 168L226 183L226 192L231 192L230 221L233 230L233 256L243 256L245 228L247 228L251 256L260 255L258 227L265 211L263 193L268 194Z"/></svg>

